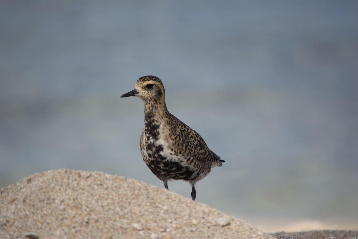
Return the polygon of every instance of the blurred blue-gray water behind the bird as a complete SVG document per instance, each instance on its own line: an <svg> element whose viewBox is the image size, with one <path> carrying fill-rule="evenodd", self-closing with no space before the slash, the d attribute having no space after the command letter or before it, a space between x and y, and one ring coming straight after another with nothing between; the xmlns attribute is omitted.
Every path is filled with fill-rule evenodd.
<svg viewBox="0 0 358 239"><path fill-rule="evenodd" d="M226 162L197 200L235 216L358 218L358 1L0 3L0 186L103 171L159 187L137 78ZM190 197L184 182L169 189Z"/></svg>

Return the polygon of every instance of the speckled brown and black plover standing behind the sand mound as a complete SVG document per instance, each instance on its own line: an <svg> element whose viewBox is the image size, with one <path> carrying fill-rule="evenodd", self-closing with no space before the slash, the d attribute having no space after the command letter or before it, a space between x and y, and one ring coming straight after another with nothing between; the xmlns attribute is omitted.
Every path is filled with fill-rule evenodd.
<svg viewBox="0 0 358 239"><path fill-rule="evenodd" d="M167 190L168 181L189 182L190 195L195 201L195 184L206 177L211 168L222 166L225 161L208 148L195 130L169 113L164 86L158 77L140 77L134 90L121 95L129 96L144 102L144 127L140 137L144 162Z"/></svg>

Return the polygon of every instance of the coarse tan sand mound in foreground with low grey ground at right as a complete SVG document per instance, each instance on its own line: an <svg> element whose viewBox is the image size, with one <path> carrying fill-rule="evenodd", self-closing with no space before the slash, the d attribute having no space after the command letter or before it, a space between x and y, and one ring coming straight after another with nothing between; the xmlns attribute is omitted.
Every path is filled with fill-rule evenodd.
<svg viewBox="0 0 358 239"><path fill-rule="evenodd" d="M357 231L278 233L354 238ZM297 237L295 237L297 236ZM36 173L0 191L0 238L274 238L207 205L101 172Z"/></svg>

